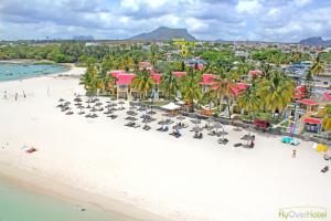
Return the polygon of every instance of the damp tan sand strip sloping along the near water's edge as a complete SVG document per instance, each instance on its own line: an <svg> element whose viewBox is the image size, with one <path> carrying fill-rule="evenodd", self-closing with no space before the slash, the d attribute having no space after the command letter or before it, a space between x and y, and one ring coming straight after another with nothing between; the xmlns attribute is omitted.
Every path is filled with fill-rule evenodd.
<svg viewBox="0 0 331 221"><path fill-rule="evenodd" d="M119 217L127 221L167 221L157 214L140 210L135 206L88 192L52 177L44 177L23 168L0 161L0 180L22 188L28 192L43 194L79 207L79 209L100 209L105 213ZM45 188L47 187L47 188Z"/></svg>

